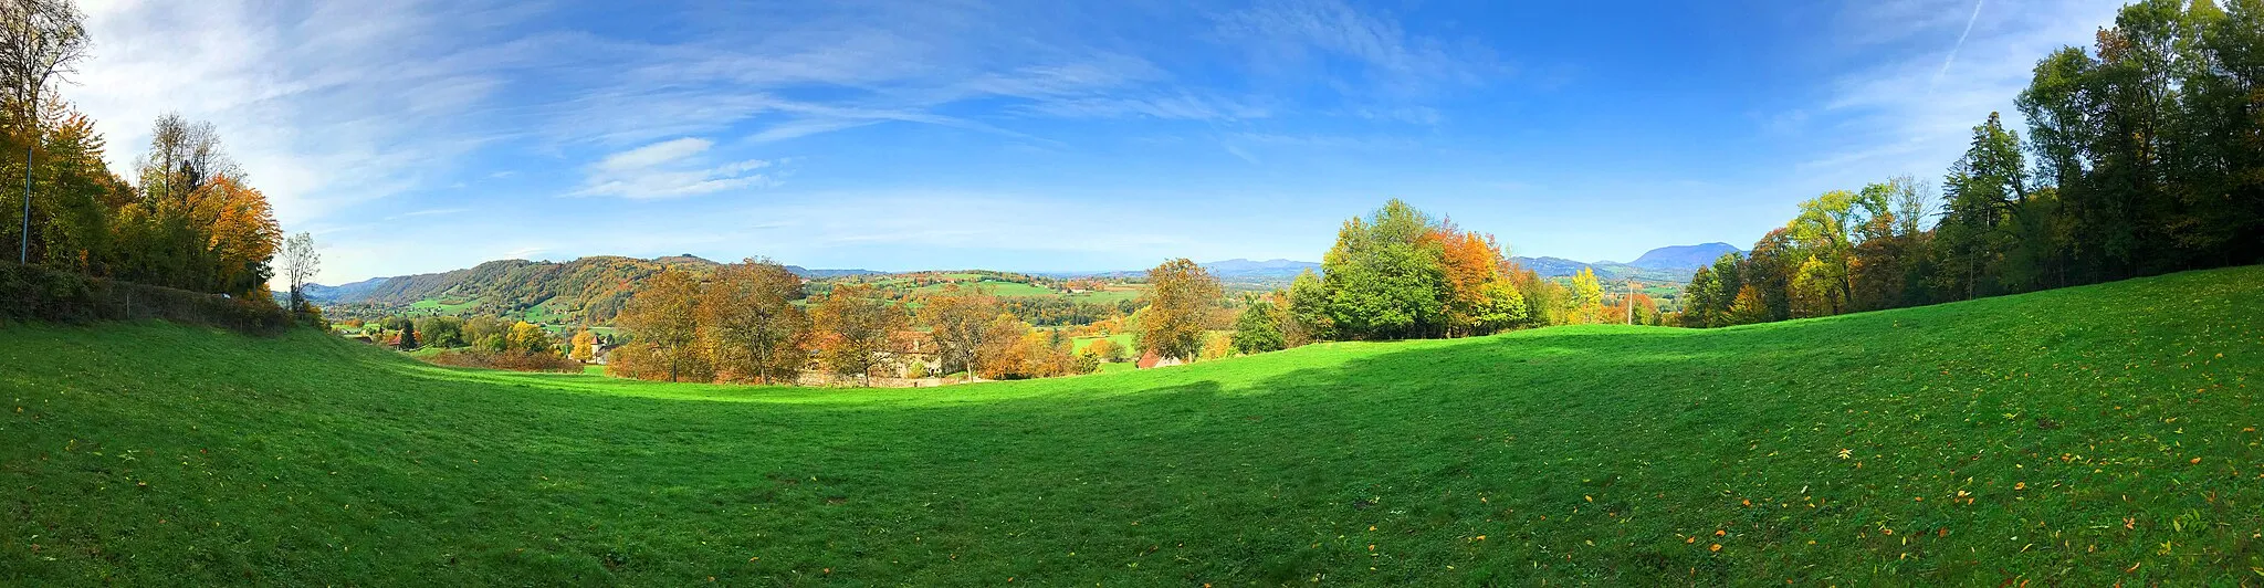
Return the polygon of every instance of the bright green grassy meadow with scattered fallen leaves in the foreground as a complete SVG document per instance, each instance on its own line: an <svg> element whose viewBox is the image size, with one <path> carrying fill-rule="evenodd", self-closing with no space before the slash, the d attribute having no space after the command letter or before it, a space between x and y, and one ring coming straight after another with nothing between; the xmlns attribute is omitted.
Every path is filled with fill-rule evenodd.
<svg viewBox="0 0 2264 588"><path fill-rule="evenodd" d="M2255 583L2264 269L946 389L0 330L0 583Z"/></svg>

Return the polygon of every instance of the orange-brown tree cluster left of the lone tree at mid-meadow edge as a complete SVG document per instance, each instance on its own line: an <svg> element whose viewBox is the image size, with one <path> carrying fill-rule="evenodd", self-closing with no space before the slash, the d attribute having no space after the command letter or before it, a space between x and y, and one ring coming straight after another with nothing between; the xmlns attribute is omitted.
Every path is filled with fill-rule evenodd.
<svg viewBox="0 0 2264 588"><path fill-rule="evenodd" d="M915 303L858 283L808 296L799 276L767 260L724 265L706 280L663 271L629 299L620 323L634 339L614 348L609 373L670 382L790 384L808 369L865 384L960 371L1005 380L1089 373L1100 362L978 287L946 285Z"/></svg>

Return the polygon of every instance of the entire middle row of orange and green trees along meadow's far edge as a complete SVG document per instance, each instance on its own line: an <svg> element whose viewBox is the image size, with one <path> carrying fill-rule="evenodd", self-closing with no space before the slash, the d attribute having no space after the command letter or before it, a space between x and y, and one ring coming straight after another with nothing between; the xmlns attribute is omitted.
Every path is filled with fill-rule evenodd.
<svg viewBox="0 0 2264 588"><path fill-rule="evenodd" d="M729 265L704 283L661 274L623 312L634 341L614 351L609 369L695 382L795 382L811 366L865 382L878 373L1001 380L1089 373L1123 355L1107 339L1080 353L1064 330L1035 330L1001 296L960 283L903 299L865 283L797 303L804 296L799 278L765 260ZM1628 317L1660 314L1646 296L1607 305L1594 271L1569 287L1544 280L1492 235L1395 199L1345 222L1322 274L1306 271L1286 289L1229 305L1216 276L1168 260L1148 271L1132 317L1096 328L1134 332L1141 355L1193 362L1322 339L1467 337Z"/></svg>

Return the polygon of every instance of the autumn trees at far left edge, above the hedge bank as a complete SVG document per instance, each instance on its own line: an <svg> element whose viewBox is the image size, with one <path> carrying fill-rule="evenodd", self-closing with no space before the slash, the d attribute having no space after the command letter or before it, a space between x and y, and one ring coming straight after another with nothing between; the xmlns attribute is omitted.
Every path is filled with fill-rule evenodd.
<svg viewBox="0 0 2264 588"><path fill-rule="evenodd" d="M16 260L131 283L269 301L283 249L267 197L208 122L163 115L131 179L104 163L95 122L54 90L88 50L68 0L0 2L0 237ZM312 244L308 244L308 256Z"/></svg>

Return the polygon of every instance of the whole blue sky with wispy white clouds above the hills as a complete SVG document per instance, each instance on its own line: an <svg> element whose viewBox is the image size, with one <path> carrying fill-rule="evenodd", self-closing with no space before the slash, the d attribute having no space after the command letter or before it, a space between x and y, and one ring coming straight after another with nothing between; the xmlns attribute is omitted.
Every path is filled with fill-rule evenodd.
<svg viewBox="0 0 2264 588"><path fill-rule="evenodd" d="M1390 197L1630 260L1938 179L2117 5L95 0L66 97L118 170L215 122L326 283L1318 260Z"/></svg>

